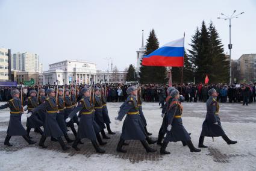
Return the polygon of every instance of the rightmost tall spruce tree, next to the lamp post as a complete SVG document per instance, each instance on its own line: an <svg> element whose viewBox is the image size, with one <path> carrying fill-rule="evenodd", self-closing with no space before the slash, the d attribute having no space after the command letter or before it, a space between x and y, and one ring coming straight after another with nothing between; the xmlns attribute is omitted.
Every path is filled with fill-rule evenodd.
<svg viewBox="0 0 256 171"><path fill-rule="evenodd" d="M212 70L210 73L211 82L228 82L229 80L229 63L225 57L223 45L219 39L219 34L213 22L210 22L208 27L210 43L209 43L209 56L212 61Z"/></svg>

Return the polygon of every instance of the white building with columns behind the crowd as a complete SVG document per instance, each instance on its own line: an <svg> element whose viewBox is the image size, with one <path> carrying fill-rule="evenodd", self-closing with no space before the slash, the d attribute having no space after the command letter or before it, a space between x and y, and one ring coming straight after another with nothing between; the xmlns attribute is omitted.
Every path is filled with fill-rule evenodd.
<svg viewBox="0 0 256 171"><path fill-rule="evenodd" d="M96 63L78 60L64 60L49 64L43 72L45 84L91 84L96 82Z"/></svg>

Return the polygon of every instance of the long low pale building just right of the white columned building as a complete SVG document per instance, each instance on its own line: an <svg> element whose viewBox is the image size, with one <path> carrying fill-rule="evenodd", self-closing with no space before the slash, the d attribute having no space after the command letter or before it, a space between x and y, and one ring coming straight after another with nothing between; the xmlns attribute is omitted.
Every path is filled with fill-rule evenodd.
<svg viewBox="0 0 256 171"><path fill-rule="evenodd" d="M126 81L126 71L102 71L97 70L96 83L100 82L125 82Z"/></svg>

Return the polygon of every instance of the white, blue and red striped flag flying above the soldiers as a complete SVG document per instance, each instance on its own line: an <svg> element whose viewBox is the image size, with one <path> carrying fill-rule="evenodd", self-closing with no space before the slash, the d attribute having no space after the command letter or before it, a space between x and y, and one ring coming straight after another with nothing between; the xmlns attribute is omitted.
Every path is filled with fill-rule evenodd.
<svg viewBox="0 0 256 171"><path fill-rule="evenodd" d="M142 59L143 66L184 66L184 37L163 45Z"/></svg>

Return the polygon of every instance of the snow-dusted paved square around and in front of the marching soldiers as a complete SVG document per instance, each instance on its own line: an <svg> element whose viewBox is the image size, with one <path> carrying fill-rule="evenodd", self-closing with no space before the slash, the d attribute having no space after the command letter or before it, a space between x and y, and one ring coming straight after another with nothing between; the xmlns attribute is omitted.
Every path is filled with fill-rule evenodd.
<svg viewBox="0 0 256 171"><path fill-rule="evenodd" d="M120 105L108 103L110 119L113 122L111 128L119 132L122 124L114 125L114 117ZM192 133L192 141L197 146L206 113L205 104L184 102L183 105L183 124ZM180 142L169 143L167 151L171 152L170 155L161 156L158 161L138 162L111 154L92 154L88 157L29 146L17 151L0 150L0 170L256 170L255 110L256 104L249 104L248 107L241 104L220 104L223 129L229 138L238 141L236 145L226 145L221 137L214 138L214 142L206 137L205 145L209 148L202 149L199 153L191 153ZM153 133L152 137L157 137L162 122L161 109L157 103L145 102L143 111L148 122L148 131ZM0 111L2 134L7 130L9 116L8 110ZM26 117L22 116L22 121L25 120ZM4 141L4 136L1 136L0 141ZM4 145L1 144L0 149L1 147Z"/></svg>

